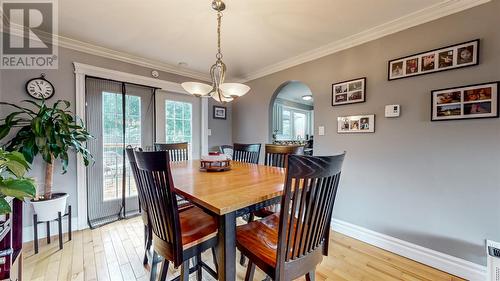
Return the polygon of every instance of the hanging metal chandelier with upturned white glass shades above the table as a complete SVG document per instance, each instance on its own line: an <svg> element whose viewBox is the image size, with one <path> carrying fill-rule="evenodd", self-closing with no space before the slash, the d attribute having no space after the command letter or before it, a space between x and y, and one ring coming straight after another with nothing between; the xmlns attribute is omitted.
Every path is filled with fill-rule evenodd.
<svg viewBox="0 0 500 281"><path fill-rule="evenodd" d="M226 9L226 4L222 0L214 0L212 2L212 9L217 12L217 54L215 55L217 60L210 67L212 85L200 82L184 82L181 85L184 90L194 96L210 96L218 102L226 103L248 93L250 87L240 83L224 83L227 68L226 64L222 61L220 30L222 11Z"/></svg>

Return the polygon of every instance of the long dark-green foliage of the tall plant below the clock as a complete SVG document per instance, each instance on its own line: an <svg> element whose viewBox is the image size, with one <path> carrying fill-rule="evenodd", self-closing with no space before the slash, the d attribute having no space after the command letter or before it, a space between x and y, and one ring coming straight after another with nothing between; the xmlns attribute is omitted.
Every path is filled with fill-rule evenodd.
<svg viewBox="0 0 500 281"><path fill-rule="evenodd" d="M19 151L24 158L33 163L40 154L47 163L59 159L62 172L68 169L68 152L75 151L83 157L86 166L93 161L92 155L85 147L85 142L92 139L83 121L69 110L69 101L58 100L52 106L24 100L22 105L0 102L13 107L16 111L0 119L0 139L6 137L11 130L18 128L16 135L7 142L8 151ZM27 106L23 106L26 104Z"/></svg>

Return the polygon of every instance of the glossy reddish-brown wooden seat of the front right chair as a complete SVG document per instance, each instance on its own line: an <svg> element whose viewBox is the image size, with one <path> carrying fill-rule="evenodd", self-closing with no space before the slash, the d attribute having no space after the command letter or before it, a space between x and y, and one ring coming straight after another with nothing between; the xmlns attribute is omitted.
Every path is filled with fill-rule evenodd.
<svg viewBox="0 0 500 281"><path fill-rule="evenodd" d="M265 272L276 267L279 214L236 228L236 246Z"/></svg>

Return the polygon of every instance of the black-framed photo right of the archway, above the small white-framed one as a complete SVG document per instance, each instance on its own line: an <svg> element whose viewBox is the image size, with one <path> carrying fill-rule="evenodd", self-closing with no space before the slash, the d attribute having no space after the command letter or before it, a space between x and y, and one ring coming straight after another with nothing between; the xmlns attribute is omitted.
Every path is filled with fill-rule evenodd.
<svg viewBox="0 0 500 281"><path fill-rule="evenodd" d="M365 102L366 77L332 84L332 106Z"/></svg>

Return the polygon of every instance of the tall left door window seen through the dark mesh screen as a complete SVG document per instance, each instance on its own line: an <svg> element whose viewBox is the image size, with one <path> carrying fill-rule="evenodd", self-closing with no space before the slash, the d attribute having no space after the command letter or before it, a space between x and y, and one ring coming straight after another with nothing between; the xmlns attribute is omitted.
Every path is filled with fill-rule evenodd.
<svg viewBox="0 0 500 281"><path fill-rule="evenodd" d="M141 146L141 98L125 96L125 145ZM122 94L102 94L103 200L122 196L123 181L123 108ZM126 196L137 195L128 161L125 161Z"/></svg>

